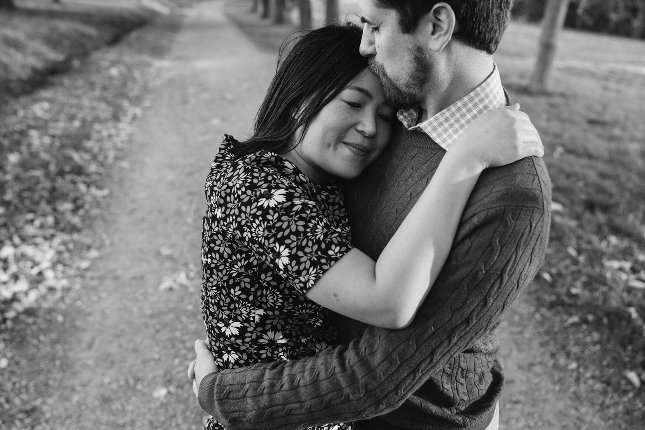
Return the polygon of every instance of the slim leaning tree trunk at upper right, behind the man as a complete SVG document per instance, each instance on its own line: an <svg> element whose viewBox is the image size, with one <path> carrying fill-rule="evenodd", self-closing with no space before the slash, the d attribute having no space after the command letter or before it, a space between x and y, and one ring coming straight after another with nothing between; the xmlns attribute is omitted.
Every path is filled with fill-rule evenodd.
<svg viewBox="0 0 645 430"><path fill-rule="evenodd" d="M529 82L529 89L533 92L544 92L548 89L557 39L564 24L568 5L569 0L549 0L546 4L537 61Z"/></svg>

